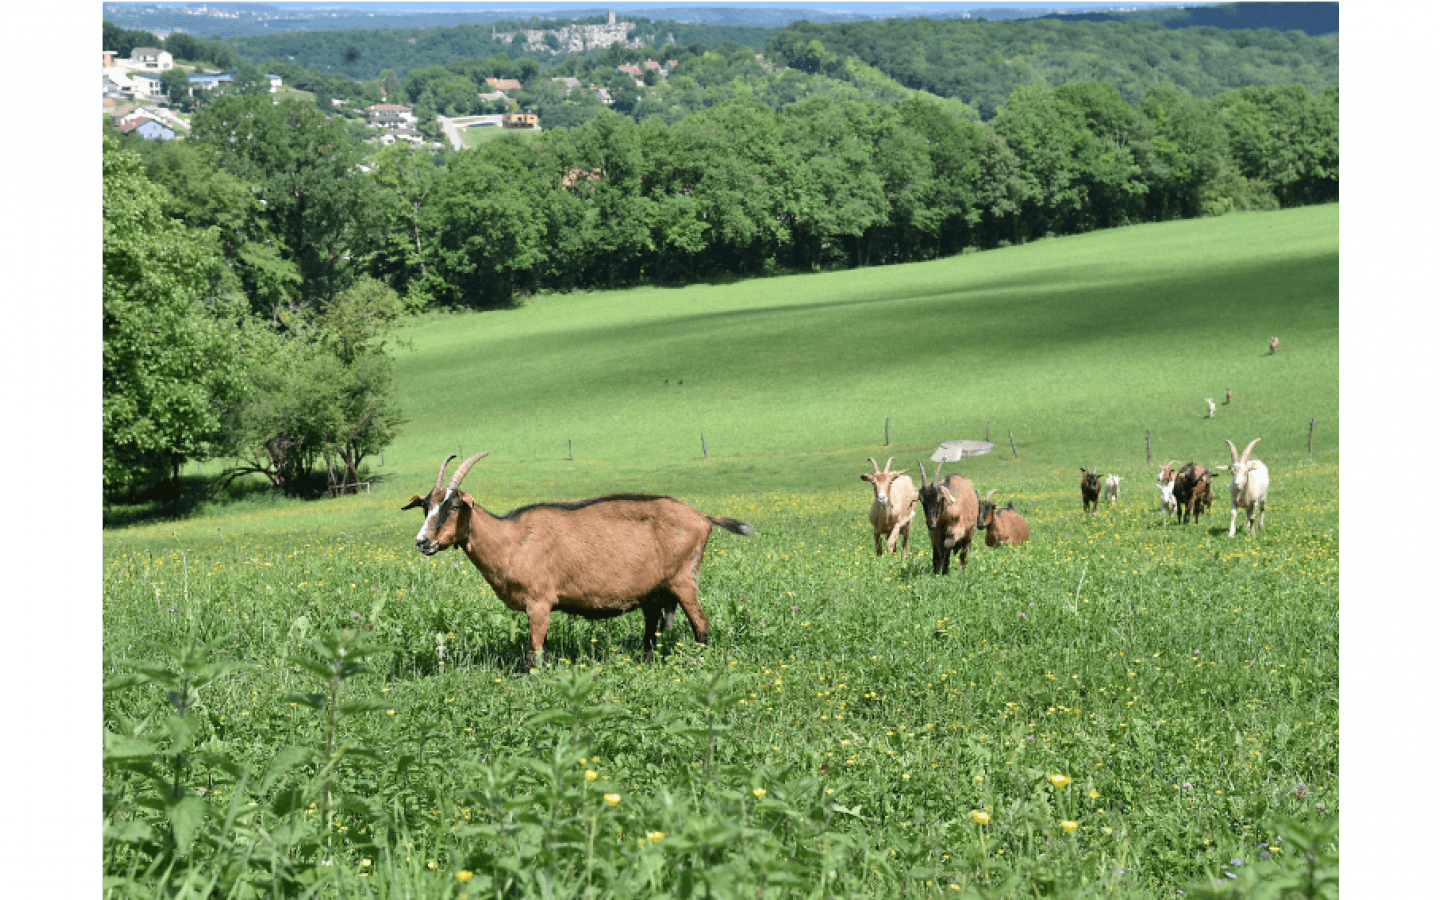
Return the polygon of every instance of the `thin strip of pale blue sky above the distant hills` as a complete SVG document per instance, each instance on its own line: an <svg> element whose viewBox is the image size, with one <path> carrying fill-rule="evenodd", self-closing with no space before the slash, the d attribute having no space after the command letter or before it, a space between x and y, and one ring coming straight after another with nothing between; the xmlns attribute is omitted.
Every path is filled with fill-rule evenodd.
<svg viewBox="0 0 1440 900"><path fill-rule="evenodd" d="M490 12L504 10L524 16L539 16L559 10L593 9L634 12L645 14L647 9L675 9L675 7L724 7L750 3L762 7L801 7L827 13L863 13L863 14L891 14L891 16L923 16L942 10L975 10L984 7L1040 7L1045 10L1076 9L1076 7L1138 7L1140 0L1090 0L1080 3L1053 0L788 0L785 3L768 0L255 0L275 7L300 9L354 9L367 13L399 13L399 12ZM225 0L217 0L223 6ZM186 6L186 0L140 0L138 6ZM1211 6L1207 0L1149 0L1145 6Z"/></svg>

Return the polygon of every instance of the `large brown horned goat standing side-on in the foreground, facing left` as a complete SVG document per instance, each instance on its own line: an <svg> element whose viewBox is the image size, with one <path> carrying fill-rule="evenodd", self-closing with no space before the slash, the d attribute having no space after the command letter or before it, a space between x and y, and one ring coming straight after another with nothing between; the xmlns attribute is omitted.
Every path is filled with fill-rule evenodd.
<svg viewBox="0 0 1440 900"><path fill-rule="evenodd" d="M645 613L641 639L651 658L655 634L668 626L675 606L685 611L698 644L710 625L700 609L697 579L713 526L736 534L755 528L721 516L706 516L671 497L608 494L576 503L539 503L491 516L459 484L487 454L459 464L449 484L441 464L435 487L400 507L420 507L425 523L415 546L425 556L459 547L480 569L495 596L530 618L526 668L544 654L550 612L608 619L632 609Z"/></svg>

